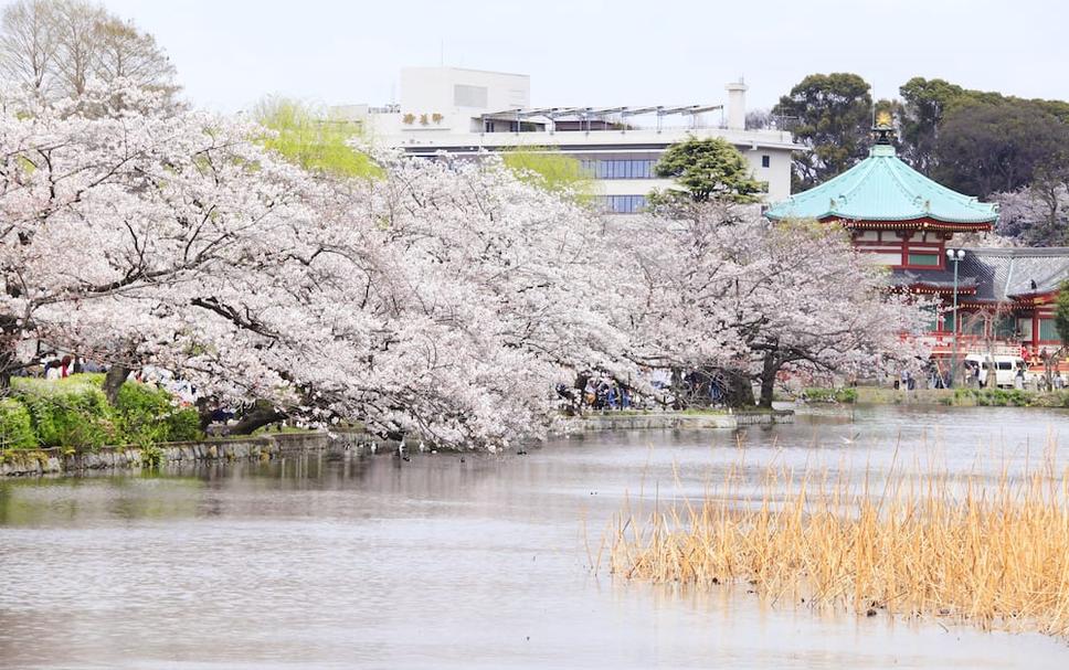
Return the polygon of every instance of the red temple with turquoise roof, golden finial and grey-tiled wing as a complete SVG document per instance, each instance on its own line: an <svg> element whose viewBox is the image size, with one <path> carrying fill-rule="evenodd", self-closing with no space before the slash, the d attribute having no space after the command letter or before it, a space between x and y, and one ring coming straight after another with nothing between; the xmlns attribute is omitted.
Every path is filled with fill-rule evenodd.
<svg viewBox="0 0 1069 670"><path fill-rule="evenodd" d="M997 205L952 191L906 164L896 156L889 121L874 128L868 158L775 204L765 216L838 223L859 252L890 268L892 286L939 296L946 309L942 319L933 318L928 336L933 357L952 352L956 291L959 357L1004 353L1042 365L1042 358L1062 344L1054 300L1069 278L1069 248L955 245L957 235L991 231ZM1069 370L1065 362L1061 366Z"/></svg>

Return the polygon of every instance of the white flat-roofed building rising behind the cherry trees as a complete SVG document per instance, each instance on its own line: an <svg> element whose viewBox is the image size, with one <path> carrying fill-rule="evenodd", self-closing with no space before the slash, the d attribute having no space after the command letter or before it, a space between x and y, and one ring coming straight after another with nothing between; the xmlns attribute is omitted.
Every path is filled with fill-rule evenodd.
<svg viewBox="0 0 1069 670"><path fill-rule="evenodd" d="M768 182L766 200L791 194L791 152L800 149L785 130L747 129L745 84L728 84L728 105L635 107L532 107L528 75L409 67L401 71L401 102L385 107L336 107L359 121L378 145L414 156L437 151L476 155L515 147L555 150L583 161L611 211L634 212L654 189L653 167L688 136L733 143Z"/></svg>

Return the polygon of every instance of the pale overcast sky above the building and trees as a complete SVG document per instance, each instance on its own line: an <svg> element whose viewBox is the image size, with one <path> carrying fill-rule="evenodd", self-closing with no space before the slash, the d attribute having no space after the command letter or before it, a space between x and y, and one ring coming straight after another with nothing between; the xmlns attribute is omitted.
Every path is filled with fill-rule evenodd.
<svg viewBox="0 0 1069 670"><path fill-rule="evenodd" d="M877 97L911 76L1069 99L1069 0L105 0L154 33L194 104L268 93L391 102L398 71L531 75L534 105L720 103L744 75L769 107L814 72ZM444 45L444 47L443 47Z"/></svg>

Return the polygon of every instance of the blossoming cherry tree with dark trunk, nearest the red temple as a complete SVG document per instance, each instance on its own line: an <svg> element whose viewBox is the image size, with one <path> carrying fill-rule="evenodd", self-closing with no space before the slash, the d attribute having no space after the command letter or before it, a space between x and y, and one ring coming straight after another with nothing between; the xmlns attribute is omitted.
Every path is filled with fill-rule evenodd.
<svg viewBox="0 0 1069 670"><path fill-rule="evenodd" d="M888 291L883 270L840 228L773 225L720 204L673 214L621 234L642 241L631 245L644 296L636 359L705 371L733 404L752 403L752 380L764 407L782 372L864 373L927 359L903 337L922 331L924 306Z"/></svg>

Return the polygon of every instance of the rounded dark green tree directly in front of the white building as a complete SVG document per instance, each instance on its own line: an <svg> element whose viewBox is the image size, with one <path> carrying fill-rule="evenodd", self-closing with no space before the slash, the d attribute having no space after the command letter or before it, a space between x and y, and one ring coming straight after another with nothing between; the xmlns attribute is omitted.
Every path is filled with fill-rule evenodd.
<svg viewBox="0 0 1069 670"><path fill-rule="evenodd" d="M756 202L765 191L763 182L752 178L745 158L734 146L719 137L690 139L673 145L654 166L657 177L675 179L685 189L654 193L652 201L664 204L680 196L695 202Z"/></svg>

